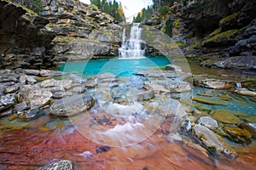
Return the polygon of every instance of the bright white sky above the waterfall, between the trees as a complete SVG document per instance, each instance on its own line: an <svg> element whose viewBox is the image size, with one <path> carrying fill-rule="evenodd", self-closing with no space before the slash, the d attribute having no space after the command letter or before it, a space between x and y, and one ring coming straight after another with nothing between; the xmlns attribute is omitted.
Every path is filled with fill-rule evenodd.
<svg viewBox="0 0 256 170"><path fill-rule="evenodd" d="M79 1L90 4L90 0L79 0ZM126 21L131 21L133 18L133 15L137 15L137 13L142 10L142 8L147 8L148 5L152 4L152 0L116 0L116 1L120 2L123 6L125 11Z"/></svg>

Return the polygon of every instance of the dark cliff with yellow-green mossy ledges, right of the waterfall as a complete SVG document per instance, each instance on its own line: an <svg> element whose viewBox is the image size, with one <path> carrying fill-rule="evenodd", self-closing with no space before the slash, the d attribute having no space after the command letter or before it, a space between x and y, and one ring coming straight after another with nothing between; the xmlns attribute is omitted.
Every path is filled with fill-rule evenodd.
<svg viewBox="0 0 256 170"><path fill-rule="evenodd" d="M162 4L168 6L168 12L143 20L143 24L166 34L172 30L172 40L185 56L201 65L255 71L255 0L177 2Z"/></svg>

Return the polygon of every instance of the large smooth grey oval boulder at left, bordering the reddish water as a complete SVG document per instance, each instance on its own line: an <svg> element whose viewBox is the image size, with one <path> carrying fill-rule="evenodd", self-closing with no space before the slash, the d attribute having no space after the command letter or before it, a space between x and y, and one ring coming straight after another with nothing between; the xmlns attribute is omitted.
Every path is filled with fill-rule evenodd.
<svg viewBox="0 0 256 170"><path fill-rule="evenodd" d="M94 105L94 99L86 94L78 94L63 99L55 99L49 112L55 116L74 116L89 110Z"/></svg>

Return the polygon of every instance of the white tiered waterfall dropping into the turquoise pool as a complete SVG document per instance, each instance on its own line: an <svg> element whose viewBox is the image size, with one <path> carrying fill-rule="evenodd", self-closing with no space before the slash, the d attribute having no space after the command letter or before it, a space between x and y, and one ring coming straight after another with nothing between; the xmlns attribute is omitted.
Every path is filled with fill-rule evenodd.
<svg viewBox="0 0 256 170"><path fill-rule="evenodd" d="M145 43L141 39L142 28L139 28L139 23L133 23L131 26L130 38L125 40L125 29L122 37L122 47L119 48L120 58L141 58L145 54L145 49L142 48L142 44Z"/></svg>

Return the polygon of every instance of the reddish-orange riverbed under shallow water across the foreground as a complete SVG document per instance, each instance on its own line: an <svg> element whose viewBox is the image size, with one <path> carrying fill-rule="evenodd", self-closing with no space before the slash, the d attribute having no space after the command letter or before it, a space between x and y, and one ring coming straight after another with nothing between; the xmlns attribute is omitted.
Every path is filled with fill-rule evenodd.
<svg viewBox="0 0 256 170"><path fill-rule="evenodd" d="M150 138L129 147L95 144L72 125L53 130L30 127L4 131L0 133L0 169L37 169L63 159L73 161L75 169L240 170L256 167L255 142L236 145L236 160L209 157L206 150L189 139L169 142L164 135L169 125L170 122L165 122Z"/></svg>

